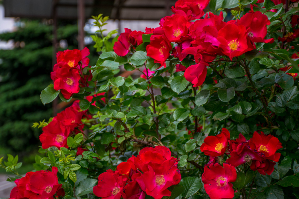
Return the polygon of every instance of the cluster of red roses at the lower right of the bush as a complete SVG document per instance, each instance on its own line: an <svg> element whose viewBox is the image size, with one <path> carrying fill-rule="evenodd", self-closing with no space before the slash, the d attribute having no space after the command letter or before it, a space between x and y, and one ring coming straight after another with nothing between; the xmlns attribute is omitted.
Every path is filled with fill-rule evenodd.
<svg viewBox="0 0 299 199"><path fill-rule="evenodd" d="M275 165L272 161L279 161L280 153L276 151L280 148L282 146L277 138L264 135L263 132L254 132L250 140L246 140L242 134L235 141L230 140L230 133L225 128L216 136L208 136L200 147L205 155L210 155L210 162L202 174L205 191L211 199L218 199L219 195L221 198L233 198L231 182L237 179L235 167L247 163L253 171L271 175ZM230 154L230 158L222 167L217 156L223 158L224 153Z"/></svg>

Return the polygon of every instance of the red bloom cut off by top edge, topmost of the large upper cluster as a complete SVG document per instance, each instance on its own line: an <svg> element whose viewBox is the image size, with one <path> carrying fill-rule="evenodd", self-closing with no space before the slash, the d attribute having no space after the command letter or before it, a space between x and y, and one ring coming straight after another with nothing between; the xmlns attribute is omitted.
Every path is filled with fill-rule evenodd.
<svg viewBox="0 0 299 199"><path fill-rule="evenodd" d="M173 13L180 13L182 10L184 13L189 15L191 11L192 18L190 20L199 19L204 15L204 9L209 4L210 0L179 0L176 1L174 7L171 7ZM189 11L190 10L190 11Z"/></svg>

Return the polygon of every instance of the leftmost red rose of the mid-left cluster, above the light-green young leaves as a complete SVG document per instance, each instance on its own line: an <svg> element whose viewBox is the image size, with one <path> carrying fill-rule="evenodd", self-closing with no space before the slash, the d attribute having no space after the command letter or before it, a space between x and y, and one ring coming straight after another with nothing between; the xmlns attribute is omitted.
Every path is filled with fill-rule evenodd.
<svg viewBox="0 0 299 199"><path fill-rule="evenodd" d="M51 121L42 128L42 131L39 140L42 142L43 149L48 149L51 146L68 148L66 141L70 134L70 128L61 121Z"/></svg>

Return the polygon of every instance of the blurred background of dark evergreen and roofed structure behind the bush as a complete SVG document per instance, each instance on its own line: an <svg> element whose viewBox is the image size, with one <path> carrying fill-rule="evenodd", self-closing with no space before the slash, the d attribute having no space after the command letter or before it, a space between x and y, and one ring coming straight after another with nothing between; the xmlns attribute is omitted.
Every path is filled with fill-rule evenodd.
<svg viewBox="0 0 299 199"><path fill-rule="evenodd" d="M53 83L56 52L90 50L89 65L99 54L90 35L98 30L92 15L109 16L106 34L124 27L144 31L159 27L171 15L176 0L0 0L0 158L19 156L19 174L33 170L42 129L34 122L48 121L70 104L59 98L43 106L40 93ZM114 36L113 36L114 37ZM121 73L122 71L120 71ZM126 74L128 75L128 74ZM9 198L14 183L0 169L0 198Z"/></svg>

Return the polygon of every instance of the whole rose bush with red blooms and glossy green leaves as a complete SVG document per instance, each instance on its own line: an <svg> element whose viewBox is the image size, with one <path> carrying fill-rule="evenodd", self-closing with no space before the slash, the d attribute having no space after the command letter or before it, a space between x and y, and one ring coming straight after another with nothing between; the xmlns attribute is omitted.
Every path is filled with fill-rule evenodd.
<svg viewBox="0 0 299 199"><path fill-rule="evenodd" d="M58 52L41 93L71 103L33 125L45 157L25 177L17 156L0 159L10 198L299 198L294 5L179 0L160 27L112 42L108 17L93 17L97 64L87 48Z"/></svg>

